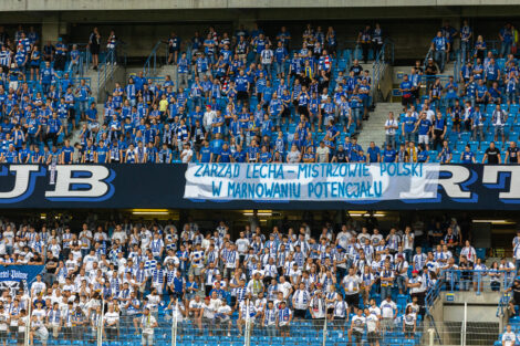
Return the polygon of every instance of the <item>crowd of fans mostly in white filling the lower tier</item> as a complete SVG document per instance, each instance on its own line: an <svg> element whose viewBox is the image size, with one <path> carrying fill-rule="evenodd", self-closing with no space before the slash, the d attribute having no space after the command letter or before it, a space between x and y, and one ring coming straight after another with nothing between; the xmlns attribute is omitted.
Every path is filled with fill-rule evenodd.
<svg viewBox="0 0 520 346"><path fill-rule="evenodd" d="M426 291L446 279L443 270L486 269L455 219L391 228L385 235L377 228L331 223L315 231L305 223L283 230L247 226L237 238L225 222L205 232L195 222L180 230L129 222L71 230L4 220L1 230L2 265L44 271L30 285L2 292L0 332L8 325L23 331L31 310L31 336L42 340L62 328L74 338L72 327L96 327L103 304L108 339L119 325L153 334L165 314L209 335L235 333L232 323L241 334L250 319L269 336L289 336L293 321L319 326L326 315L345 337L361 338L365 327L373 337L394 328L412 337ZM513 243L517 249L520 237ZM493 263L489 284L498 291L514 274L513 263ZM465 275L459 290L478 290L472 274Z"/></svg>

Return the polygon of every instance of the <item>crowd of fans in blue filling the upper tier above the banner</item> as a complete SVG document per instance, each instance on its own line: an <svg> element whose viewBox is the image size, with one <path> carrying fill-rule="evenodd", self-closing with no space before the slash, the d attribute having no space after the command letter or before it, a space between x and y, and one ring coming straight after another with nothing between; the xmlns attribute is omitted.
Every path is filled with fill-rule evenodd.
<svg viewBox="0 0 520 346"><path fill-rule="evenodd" d="M301 44L284 27L273 38L258 27L232 35L210 27L186 43L171 33L165 43L176 81L132 76L116 85L102 115L86 81L71 77L82 56L76 45L59 40L40 51L33 29L25 33L20 27L10 40L1 28L0 159L518 164L518 66L510 54L514 32L510 24L500 31L505 57L495 59L498 52L481 36L471 50L467 23L460 31L445 24L433 40L433 59L404 75L405 109L389 115L384 147L362 148L356 135L370 115L372 81L356 57L366 63L384 49L378 24L358 32L354 50L339 49L332 27L324 31L310 24ZM460 76L443 84L437 75L454 59L457 36L466 48L464 66ZM102 40L94 28L87 43L93 67ZM115 50L114 31L106 42L107 51ZM72 145L66 137L76 127L81 139Z"/></svg>

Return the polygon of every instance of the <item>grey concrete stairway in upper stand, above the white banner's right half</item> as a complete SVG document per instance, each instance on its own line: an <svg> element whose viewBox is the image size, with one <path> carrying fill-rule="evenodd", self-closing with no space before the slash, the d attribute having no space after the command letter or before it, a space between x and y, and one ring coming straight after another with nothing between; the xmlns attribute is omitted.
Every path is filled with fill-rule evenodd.
<svg viewBox="0 0 520 346"><path fill-rule="evenodd" d="M383 149L385 143L385 123L388 118L388 112L394 112L397 119L403 106L399 103L377 103L374 112L371 113L367 122L363 123L363 129L357 136L357 143L366 151L371 141Z"/></svg>

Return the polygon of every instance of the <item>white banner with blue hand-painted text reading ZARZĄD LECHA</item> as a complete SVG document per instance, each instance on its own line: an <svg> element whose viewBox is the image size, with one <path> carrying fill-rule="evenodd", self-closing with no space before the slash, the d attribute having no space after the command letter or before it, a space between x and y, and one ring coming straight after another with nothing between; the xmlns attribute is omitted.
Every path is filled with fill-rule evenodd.
<svg viewBox="0 0 520 346"><path fill-rule="evenodd" d="M437 196L438 164L190 164L184 198L364 201Z"/></svg>

